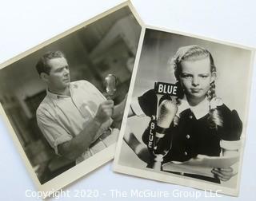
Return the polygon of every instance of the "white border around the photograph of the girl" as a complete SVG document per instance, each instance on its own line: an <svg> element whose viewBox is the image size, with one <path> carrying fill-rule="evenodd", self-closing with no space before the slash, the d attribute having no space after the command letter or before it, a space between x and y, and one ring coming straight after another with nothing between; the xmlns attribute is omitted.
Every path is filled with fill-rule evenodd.
<svg viewBox="0 0 256 201"><path fill-rule="evenodd" d="M123 136L124 136L125 130L126 130L126 124L127 124L127 120L128 120L128 112L129 112L129 108L130 108L132 95L134 92L134 84L135 84L136 74L138 71L138 65L139 65L139 61L141 58L144 37L145 37L147 29L148 30L157 30L160 32L162 31L162 32L166 32L166 33L179 34L179 35L182 35L185 37L194 37L196 39L212 41L212 42L215 42L218 44L230 45L233 47L238 47L238 48L246 49L246 50L250 51L250 66L249 66L250 77L248 77L249 79L247 81L248 91L247 91L246 107L245 107L246 115L245 115L245 120L243 121L243 130L242 130L242 136L241 136L242 143L241 143L241 152L240 152L240 162L239 162L239 168L238 168L238 180L237 180L238 185L236 185L235 188L222 187L219 184L213 184L213 183L206 182L203 180L200 181L199 179L193 179L193 178L186 179L182 175L174 175L174 174L166 173L163 171L150 171L150 169L149 170L140 170L138 168L127 167L127 166L123 166L123 165L119 164L120 153L122 150L122 144L124 143ZM118 138L118 145L116 147L116 152L115 152L115 156L114 156L114 166L113 166L114 171L119 172L119 173L124 173L127 175L134 175L134 176L138 176L138 177L142 177L142 178L146 178L146 179L153 179L153 180L158 180L158 181L162 181L162 182L166 182L166 183L174 183L174 184L179 184L179 185L188 186L188 187L194 187L194 188L198 188L198 189L202 189L202 190L206 190L206 191L216 191L218 193L222 193L222 194L226 194L226 195L238 196L239 185L240 185L240 180L241 180L241 172L242 172L242 158L243 158L243 152L244 152L245 140L246 140L247 122L248 122L248 117L249 117L248 114L249 114L249 107L250 107L250 93L251 93L250 91L252 89L252 73L253 73L254 57L255 57L255 49L252 47L249 47L249 46L238 45L238 44L234 44L229 41L219 41L217 39L210 38L210 37L202 37L202 36L195 35L195 34L184 33L184 32L180 32L177 30L168 30L168 29L159 28L156 26L146 25L145 27L143 27L142 37L140 38L140 41L138 44L137 55L136 55L136 59L135 59L135 63L134 63L134 71L133 71L131 81L130 81L130 90L128 93L126 108L125 108L125 112L124 112L124 116L123 116L123 120L122 120L122 127L121 127L119 138Z"/></svg>

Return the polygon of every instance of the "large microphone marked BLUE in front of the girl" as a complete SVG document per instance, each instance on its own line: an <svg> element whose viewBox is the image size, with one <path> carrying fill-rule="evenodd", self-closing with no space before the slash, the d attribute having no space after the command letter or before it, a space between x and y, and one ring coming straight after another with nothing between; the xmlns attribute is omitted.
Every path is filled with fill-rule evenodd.
<svg viewBox="0 0 256 201"><path fill-rule="evenodd" d="M154 83L154 92L157 96L157 112L155 116L151 117L148 143L148 148L153 152L154 161L147 167L160 171L162 170L163 158L171 149L172 136L165 136L171 135L167 131L178 111L176 98L179 93L178 85L158 81ZM168 98L161 101L164 97Z"/></svg>

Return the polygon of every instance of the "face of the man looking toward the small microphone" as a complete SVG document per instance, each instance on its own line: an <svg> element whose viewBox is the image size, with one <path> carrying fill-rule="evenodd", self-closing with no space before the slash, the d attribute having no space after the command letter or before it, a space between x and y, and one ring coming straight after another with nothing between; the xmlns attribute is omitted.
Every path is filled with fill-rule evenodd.
<svg viewBox="0 0 256 201"><path fill-rule="evenodd" d="M50 73L47 83L54 91L66 89L70 85L70 69L64 57L53 58L48 61Z"/></svg>

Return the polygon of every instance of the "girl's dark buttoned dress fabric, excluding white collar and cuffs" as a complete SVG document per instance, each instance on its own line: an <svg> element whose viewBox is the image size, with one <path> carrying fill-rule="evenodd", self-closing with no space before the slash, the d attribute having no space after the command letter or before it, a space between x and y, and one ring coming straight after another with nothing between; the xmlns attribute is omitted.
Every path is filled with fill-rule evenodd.
<svg viewBox="0 0 256 201"><path fill-rule="evenodd" d="M162 97L162 100L164 99L166 97ZM156 115L157 96L154 90L147 91L141 97L138 97L138 103L146 116ZM182 111L179 115L178 125L174 126L172 123L170 128L166 130L166 135L158 142L160 149L171 147L170 152L164 157L163 163L190 160L198 154L220 156L222 151L220 147L221 140L240 140L242 121L238 112L231 111L225 104L218 106L217 109L223 120L223 126L218 126L218 128L210 127L209 113L197 120L190 108ZM142 135L145 144L148 144L149 136L150 127L146 128ZM153 155L152 150L150 152Z"/></svg>

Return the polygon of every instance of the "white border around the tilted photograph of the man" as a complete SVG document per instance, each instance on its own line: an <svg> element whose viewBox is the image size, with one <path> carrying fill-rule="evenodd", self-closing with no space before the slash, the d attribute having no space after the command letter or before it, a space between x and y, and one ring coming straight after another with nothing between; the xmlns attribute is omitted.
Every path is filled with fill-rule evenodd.
<svg viewBox="0 0 256 201"><path fill-rule="evenodd" d="M46 45L50 45L54 41L58 41L62 37L68 36L70 33L74 33L77 30L80 30L82 27L90 25L94 22L97 22L101 18L107 17L109 14L114 13L115 11L118 11L124 7L128 7L131 11L131 14L134 15L134 18L137 20L138 25L143 27L144 23L142 22L142 19L138 16L137 11L134 9L134 6L131 4L130 1L125 1L117 6L114 6L113 8L106 10L102 14L98 14L94 18L90 18L89 20L86 20L85 22L82 22L78 26L74 26L70 30L66 30L63 33L58 34L55 37L50 38L47 41L42 42L42 44L36 45L31 49L26 50L23 53L18 54L18 56L11 58L10 60L7 60L0 64L0 70L13 64L15 61L21 60L23 57L26 57L30 55L31 53L34 53L38 49L42 49ZM6 112L4 111L2 104L0 104L0 115L1 119L3 120L3 123L5 124L7 131L10 133L10 136L12 137L12 140L14 141L15 147L18 149L18 153L22 157L22 161L25 163L26 169L30 175L30 178L32 178L36 188L38 191L42 191L43 195L50 196L55 191L58 191L62 189L63 187L66 187L68 184L74 182L75 180L81 178L82 176L90 173L90 171L94 171L96 168L102 166L103 164L106 164L110 160L113 160L114 158L114 152L116 144L111 144L109 147L103 149L101 152L98 152L94 156L90 157L89 159L86 159L80 164L77 164L76 166L70 168L69 170L63 172L61 175L58 175L54 177L54 179L50 179L46 183L41 184L38 176L35 174L35 171L33 167L30 164L30 160L28 160L26 153L24 149L22 148L22 144L20 144L18 140L18 136L14 132L14 128L10 124L10 120L6 116Z"/></svg>

